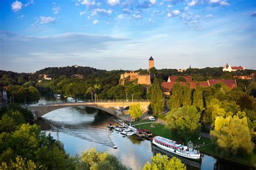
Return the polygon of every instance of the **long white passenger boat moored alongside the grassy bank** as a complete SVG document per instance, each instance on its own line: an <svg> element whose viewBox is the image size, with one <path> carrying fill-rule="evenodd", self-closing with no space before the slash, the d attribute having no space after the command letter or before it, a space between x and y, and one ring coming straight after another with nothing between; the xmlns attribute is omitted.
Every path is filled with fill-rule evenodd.
<svg viewBox="0 0 256 170"><path fill-rule="evenodd" d="M177 144L176 141L170 140L163 137L154 137L152 143L166 151L173 154L179 155L180 157L185 157L193 160L200 159L200 153L193 148L193 143L188 142L188 146Z"/></svg>

